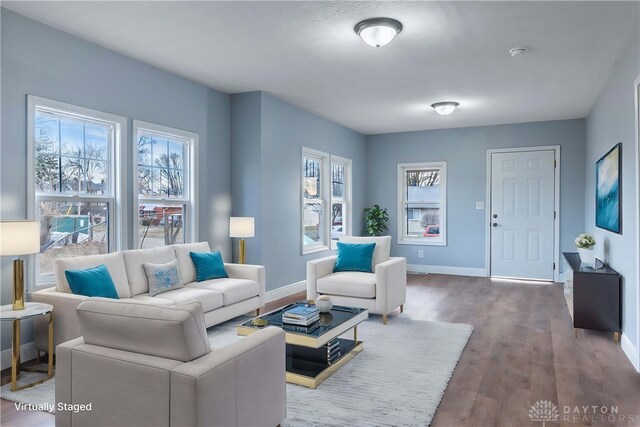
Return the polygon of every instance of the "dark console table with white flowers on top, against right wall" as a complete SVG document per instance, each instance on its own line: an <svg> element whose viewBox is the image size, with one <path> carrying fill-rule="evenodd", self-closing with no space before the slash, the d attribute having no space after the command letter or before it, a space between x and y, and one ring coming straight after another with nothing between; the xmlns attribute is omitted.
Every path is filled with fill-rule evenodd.
<svg viewBox="0 0 640 427"><path fill-rule="evenodd" d="M620 274L600 260L594 270L580 263L580 255L564 252L564 296L576 338L580 329L613 332L620 338Z"/></svg>

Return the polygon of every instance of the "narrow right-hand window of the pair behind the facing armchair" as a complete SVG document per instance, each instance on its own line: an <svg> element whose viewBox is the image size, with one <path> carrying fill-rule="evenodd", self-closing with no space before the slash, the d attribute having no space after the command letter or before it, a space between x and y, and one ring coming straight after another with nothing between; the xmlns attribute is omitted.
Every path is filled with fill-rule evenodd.
<svg viewBox="0 0 640 427"><path fill-rule="evenodd" d="M331 156L331 247L351 234L351 160Z"/></svg>

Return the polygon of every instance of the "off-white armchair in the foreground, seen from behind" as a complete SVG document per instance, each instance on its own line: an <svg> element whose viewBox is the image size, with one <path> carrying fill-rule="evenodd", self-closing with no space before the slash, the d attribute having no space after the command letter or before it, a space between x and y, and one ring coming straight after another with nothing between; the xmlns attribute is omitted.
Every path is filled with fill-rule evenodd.
<svg viewBox="0 0 640 427"><path fill-rule="evenodd" d="M212 350L198 302L94 298L77 313L82 337L57 349L57 427L274 427L284 420L280 328ZM91 410L64 410L83 404Z"/></svg>

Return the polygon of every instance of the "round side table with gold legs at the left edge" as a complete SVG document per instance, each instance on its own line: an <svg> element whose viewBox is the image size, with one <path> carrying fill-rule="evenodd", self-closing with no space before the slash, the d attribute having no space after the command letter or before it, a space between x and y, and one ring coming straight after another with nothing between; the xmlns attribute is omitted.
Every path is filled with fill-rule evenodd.
<svg viewBox="0 0 640 427"><path fill-rule="evenodd" d="M49 366L47 370L24 369L25 371L44 372L46 377L18 387L20 376L20 321L37 316L49 315ZM11 391L22 390L45 382L53 376L53 306L40 302L26 302L24 310L14 310L11 304L0 306L0 321L13 322L13 344L11 348Z"/></svg>

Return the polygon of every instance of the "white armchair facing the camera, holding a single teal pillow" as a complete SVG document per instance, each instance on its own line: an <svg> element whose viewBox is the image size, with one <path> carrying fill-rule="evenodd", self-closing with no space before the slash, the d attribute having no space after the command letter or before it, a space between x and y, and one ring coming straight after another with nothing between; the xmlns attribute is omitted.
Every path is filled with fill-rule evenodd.
<svg viewBox="0 0 640 427"><path fill-rule="evenodd" d="M375 243L373 273L360 271L333 272L336 256L307 262L307 299L327 295L334 305L361 307L373 314L387 315L400 307L403 312L407 299L407 261L389 257L391 236L343 236L344 243Z"/></svg>

